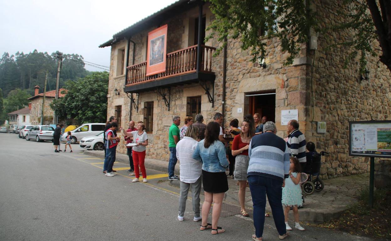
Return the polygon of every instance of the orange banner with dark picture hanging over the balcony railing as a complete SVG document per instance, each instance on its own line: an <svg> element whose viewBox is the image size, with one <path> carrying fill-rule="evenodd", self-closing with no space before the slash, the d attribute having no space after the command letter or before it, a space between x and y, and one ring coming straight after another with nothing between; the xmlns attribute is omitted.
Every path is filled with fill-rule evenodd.
<svg viewBox="0 0 391 241"><path fill-rule="evenodd" d="M148 33L147 76L166 71L167 24Z"/></svg>

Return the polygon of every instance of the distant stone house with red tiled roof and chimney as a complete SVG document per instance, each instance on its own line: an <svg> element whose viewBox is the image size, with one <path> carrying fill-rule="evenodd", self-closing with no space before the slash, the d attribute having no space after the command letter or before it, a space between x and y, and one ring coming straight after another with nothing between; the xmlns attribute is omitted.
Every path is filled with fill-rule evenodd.
<svg viewBox="0 0 391 241"><path fill-rule="evenodd" d="M30 112L30 123L31 125L39 125L41 123L42 104L43 104L43 93L39 93L39 86L34 87L34 96L30 97L31 101L31 112ZM62 92L66 89L59 89L58 97L64 97L65 94ZM50 103L56 98L56 90L47 91L45 93L45 105L43 107L43 125L53 123L54 111L50 108Z"/></svg>

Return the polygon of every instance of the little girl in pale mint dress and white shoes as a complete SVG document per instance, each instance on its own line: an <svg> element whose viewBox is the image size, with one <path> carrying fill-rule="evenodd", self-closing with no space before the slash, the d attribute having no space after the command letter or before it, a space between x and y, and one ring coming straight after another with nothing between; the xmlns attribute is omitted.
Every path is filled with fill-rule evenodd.
<svg viewBox="0 0 391 241"><path fill-rule="evenodd" d="M295 228L304 231L305 229L301 227L299 223L299 210L298 206L303 205L303 200L301 199L301 187L300 187L300 163L296 157L291 157L291 166L289 168L289 177L284 180L285 186L282 188L282 205L285 206L284 215L285 215L285 225L287 230L292 230L288 224L288 213L289 210L293 209Z"/></svg>

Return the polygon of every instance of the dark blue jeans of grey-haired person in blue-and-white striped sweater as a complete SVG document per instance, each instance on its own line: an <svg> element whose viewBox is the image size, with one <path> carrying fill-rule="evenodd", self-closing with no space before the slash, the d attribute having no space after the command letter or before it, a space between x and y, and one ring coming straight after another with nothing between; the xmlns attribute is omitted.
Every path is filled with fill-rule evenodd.
<svg viewBox="0 0 391 241"><path fill-rule="evenodd" d="M282 209L282 181L258 175L249 175L251 197L254 207L254 227L256 237L262 237L265 223L266 195L273 213L274 224L277 232L283 235L287 232L285 227L284 212Z"/></svg>

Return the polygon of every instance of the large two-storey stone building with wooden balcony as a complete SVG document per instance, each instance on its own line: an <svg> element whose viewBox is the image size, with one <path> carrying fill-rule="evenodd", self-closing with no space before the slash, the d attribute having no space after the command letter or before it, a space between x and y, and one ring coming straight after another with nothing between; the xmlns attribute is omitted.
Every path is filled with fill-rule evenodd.
<svg viewBox="0 0 391 241"><path fill-rule="evenodd" d="M342 21L336 9L341 0L312 1L322 25ZM368 160L348 155L348 121L389 120L391 114L390 73L368 57L369 78L361 80L359 65L343 68L346 48L326 50L330 38L314 33L303 43L293 64L284 65L288 54L280 40L265 39L266 66L250 61L240 40L228 40L226 50L212 57L216 39L203 43L198 36L213 21L209 4L179 0L113 35L99 47L111 46L108 117L117 116L120 126L129 120L144 121L149 136L147 158L168 161L168 129L172 116L201 113L205 123L215 112L224 115L224 126L233 118L255 112L276 123L278 135L286 137L282 111L298 110L300 130L323 157L324 179L368 171ZM146 76L148 32L168 25L166 71ZM199 28L201 26L201 28ZM199 30L199 31L198 31ZM333 33L348 38L352 34ZM313 38L315 39L315 38ZM198 52L198 50L200 50ZM197 59L197 56L202 58ZM198 63L199 60L199 63ZM317 133L317 123L326 122L326 133ZM123 145L119 152L126 153Z"/></svg>

